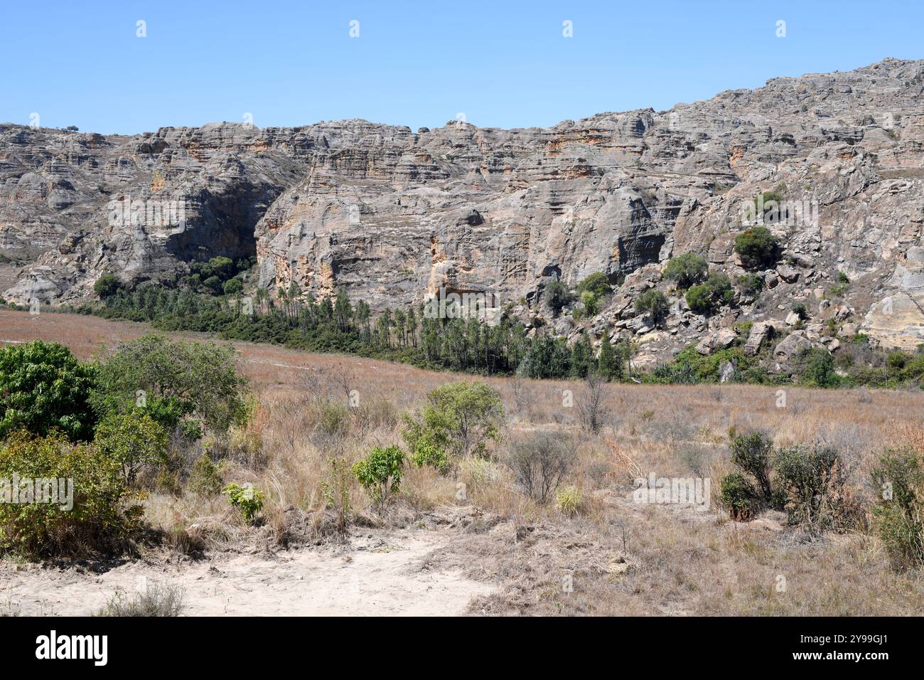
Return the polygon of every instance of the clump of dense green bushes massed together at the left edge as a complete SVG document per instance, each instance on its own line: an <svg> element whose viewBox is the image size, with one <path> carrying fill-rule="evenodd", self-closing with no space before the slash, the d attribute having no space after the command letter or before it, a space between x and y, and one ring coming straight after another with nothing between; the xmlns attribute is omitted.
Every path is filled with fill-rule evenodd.
<svg viewBox="0 0 924 680"><path fill-rule="evenodd" d="M246 419L236 363L226 347L158 336L93 364L42 340L0 349L0 551L129 549L144 493L184 473L205 431Z"/></svg>

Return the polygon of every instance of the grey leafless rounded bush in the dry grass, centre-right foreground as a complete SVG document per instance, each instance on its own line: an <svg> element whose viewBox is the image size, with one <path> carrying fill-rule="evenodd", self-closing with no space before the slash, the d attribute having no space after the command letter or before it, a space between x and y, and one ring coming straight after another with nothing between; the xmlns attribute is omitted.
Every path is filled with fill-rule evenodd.
<svg viewBox="0 0 924 680"><path fill-rule="evenodd" d="M507 464L532 498L546 502L577 458L575 442L561 432L534 432L514 441Z"/></svg>

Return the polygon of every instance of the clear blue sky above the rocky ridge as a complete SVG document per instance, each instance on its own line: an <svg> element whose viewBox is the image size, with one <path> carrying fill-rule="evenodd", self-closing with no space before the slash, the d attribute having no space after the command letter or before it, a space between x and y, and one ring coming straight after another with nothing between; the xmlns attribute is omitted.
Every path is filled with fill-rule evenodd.
<svg viewBox="0 0 924 680"><path fill-rule="evenodd" d="M924 3L910 0L0 0L0 121L35 112L43 126L135 133L250 113L259 127L362 117L417 129L462 112L548 126L924 57L922 26Z"/></svg>

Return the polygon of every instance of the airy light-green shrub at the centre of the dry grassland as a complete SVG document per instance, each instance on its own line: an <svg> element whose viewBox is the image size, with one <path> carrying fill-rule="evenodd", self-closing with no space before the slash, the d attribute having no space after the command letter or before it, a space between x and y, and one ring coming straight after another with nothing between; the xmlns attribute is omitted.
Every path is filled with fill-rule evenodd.
<svg viewBox="0 0 924 680"><path fill-rule="evenodd" d="M434 389L418 418L405 417L404 438L411 451L435 447L449 455L483 454L498 439L504 402L483 382L454 382Z"/></svg>

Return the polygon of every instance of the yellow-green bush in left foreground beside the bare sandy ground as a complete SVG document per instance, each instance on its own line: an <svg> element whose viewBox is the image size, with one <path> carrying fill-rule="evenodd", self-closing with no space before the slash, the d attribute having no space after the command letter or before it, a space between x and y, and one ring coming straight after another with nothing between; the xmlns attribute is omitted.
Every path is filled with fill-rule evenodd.
<svg viewBox="0 0 924 680"><path fill-rule="evenodd" d="M55 490L9 481L73 480ZM126 506L137 499L122 466L91 444L74 445L54 431L47 437L14 433L0 449L0 547L29 557L79 557L123 550L140 528L143 509ZM12 494L18 491L19 502ZM42 499L37 498L41 493ZM69 495L62 499L62 495ZM56 502L55 502L56 500ZM48 502L53 501L53 502ZM73 503L73 507L67 506Z"/></svg>

